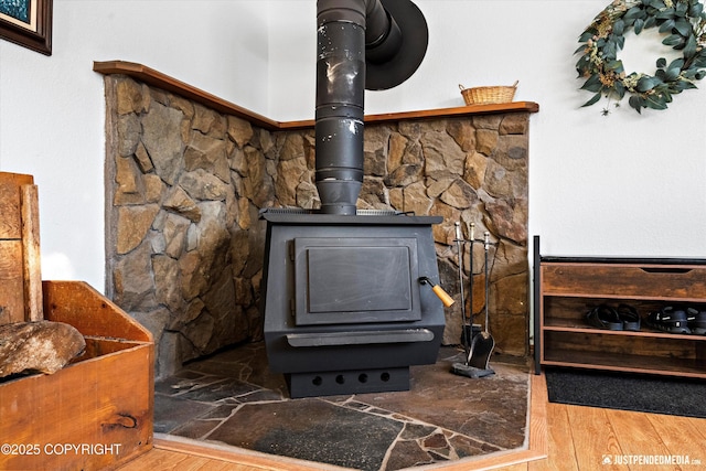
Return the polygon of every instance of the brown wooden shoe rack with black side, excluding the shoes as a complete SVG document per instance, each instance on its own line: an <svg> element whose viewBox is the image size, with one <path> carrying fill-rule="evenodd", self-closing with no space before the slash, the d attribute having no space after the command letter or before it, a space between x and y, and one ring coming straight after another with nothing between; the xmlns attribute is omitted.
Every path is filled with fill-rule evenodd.
<svg viewBox="0 0 706 471"><path fill-rule="evenodd" d="M535 371L565 366L706 378L706 335L653 329L666 306L706 310L706 259L543 257L534 240ZM591 309L621 303L639 331L590 325Z"/></svg>

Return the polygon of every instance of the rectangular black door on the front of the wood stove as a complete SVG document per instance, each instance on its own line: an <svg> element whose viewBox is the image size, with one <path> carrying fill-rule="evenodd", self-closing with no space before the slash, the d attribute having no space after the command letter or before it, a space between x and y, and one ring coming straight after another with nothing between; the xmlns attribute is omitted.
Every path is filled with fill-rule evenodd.
<svg viewBox="0 0 706 471"><path fill-rule="evenodd" d="M421 319L417 239L295 238L297 325Z"/></svg>

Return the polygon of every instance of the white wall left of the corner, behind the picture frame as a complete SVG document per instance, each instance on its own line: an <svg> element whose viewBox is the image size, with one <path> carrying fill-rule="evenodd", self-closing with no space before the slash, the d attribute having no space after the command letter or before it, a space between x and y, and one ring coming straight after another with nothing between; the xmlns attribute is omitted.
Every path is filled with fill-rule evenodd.
<svg viewBox="0 0 706 471"><path fill-rule="evenodd" d="M105 289L105 100L93 62L141 63L264 113L264 4L54 0L52 56L0 41L0 170L39 185L44 279Z"/></svg>

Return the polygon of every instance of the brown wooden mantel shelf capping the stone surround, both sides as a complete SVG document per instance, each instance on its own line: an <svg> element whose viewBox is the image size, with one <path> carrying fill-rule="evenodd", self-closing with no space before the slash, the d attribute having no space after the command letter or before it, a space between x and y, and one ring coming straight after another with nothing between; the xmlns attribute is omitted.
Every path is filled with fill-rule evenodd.
<svg viewBox="0 0 706 471"><path fill-rule="evenodd" d="M216 111L227 115L237 116L239 118L250 121L253 125L259 126L270 131L281 130L296 130L313 128L314 120L302 121L276 121L249 109L237 106L233 103L226 101L212 95L207 92L185 84L169 75L162 74L159 71L147 67L142 64L126 61L107 61L107 62L94 62L93 69L99 74L121 74L132 77L137 81L143 82L148 85L162 88L167 92L171 92L183 96L184 98L192 99L204 106L215 109ZM460 106L456 108L441 108L441 109L427 109L421 111L404 111L404 113L389 113L382 115L366 115L365 122L384 122L384 121L399 121L403 119L425 119L425 118L446 118L458 116L473 116L473 115L490 115L496 113L537 113L539 111L539 105L534 101L512 101L493 105L471 105Z"/></svg>

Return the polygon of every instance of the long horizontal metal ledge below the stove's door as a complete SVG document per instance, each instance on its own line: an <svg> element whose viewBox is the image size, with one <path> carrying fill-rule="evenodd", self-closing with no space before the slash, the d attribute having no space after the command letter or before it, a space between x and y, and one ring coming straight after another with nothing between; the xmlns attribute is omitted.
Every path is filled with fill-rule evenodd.
<svg viewBox="0 0 706 471"><path fill-rule="evenodd" d="M289 345L302 347L430 342L434 340L434 332L429 329L405 329L396 331L290 333L286 336Z"/></svg>

